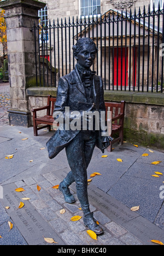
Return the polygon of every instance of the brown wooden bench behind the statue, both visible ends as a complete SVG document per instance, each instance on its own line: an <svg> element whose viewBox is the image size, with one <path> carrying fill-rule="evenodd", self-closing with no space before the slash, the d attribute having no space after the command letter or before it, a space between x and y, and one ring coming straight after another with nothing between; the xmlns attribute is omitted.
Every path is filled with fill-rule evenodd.
<svg viewBox="0 0 164 256"><path fill-rule="evenodd" d="M45 107L32 109L34 136L38 136L38 130L44 129L46 127L48 127L49 131L51 131L51 125L54 122L54 118L52 117L52 115L54 112L55 102L56 102L56 98L51 97L51 95L49 95L48 102ZM112 145L115 142L120 141L120 144L123 143L125 101L121 101L121 103L105 102L105 104L106 104L106 110L109 110L112 112L111 136L113 136L116 132L119 133L119 137L113 139L113 141L110 143L110 146L107 149L109 152L111 152ZM37 112L44 109L46 109L46 115L44 115L43 117L37 117ZM41 125L41 124L45 124L45 125L38 127L38 125Z"/></svg>

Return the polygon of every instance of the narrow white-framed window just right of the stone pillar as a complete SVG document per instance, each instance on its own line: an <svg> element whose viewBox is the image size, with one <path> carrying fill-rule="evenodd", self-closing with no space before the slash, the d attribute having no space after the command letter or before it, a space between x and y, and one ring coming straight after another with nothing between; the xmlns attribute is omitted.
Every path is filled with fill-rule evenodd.
<svg viewBox="0 0 164 256"><path fill-rule="evenodd" d="M44 7L44 9L40 9L38 11L39 16L39 25L42 27L40 29L40 40L49 40L48 30L46 29L46 26L48 25L48 10L47 7Z"/></svg>

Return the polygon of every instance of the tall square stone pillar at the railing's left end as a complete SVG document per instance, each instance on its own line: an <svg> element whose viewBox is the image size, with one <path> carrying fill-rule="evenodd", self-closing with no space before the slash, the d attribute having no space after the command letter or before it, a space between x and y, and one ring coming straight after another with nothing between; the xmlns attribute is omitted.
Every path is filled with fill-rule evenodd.
<svg viewBox="0 0 164 256"><path fill-rule="evenodd" d="M28 80L36 74L34 32L31 28L34 22L38 24L38 10L44 7L45 3L37 0L0 2L0 8L5 10L7 24L11 98L11 109L8 112L9 123L13 125L31 126L26 94Z"/></svg>

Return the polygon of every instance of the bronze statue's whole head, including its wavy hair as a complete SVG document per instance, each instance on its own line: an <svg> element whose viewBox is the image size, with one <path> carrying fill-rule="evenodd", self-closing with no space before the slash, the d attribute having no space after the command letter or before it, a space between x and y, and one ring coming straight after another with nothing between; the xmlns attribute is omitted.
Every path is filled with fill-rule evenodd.
<svg viewBox="0 0 164 256"><path fill-rule="evenodd" d="M96 53L98 51L93 40L86 37L80 38L72 49L74 57L79 62L79 64L82 67L89 69L93 64Z"/></svg>

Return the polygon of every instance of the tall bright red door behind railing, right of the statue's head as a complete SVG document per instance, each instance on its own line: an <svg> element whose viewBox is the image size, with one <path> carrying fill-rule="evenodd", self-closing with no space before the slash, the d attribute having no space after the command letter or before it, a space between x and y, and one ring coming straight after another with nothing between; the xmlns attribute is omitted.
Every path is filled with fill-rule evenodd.
<svg viewBox="0 0 164 256"><path fill-rule="evenodd" d="M126 71L125 71L125 68L126 68ZM126 56L125 56L125 47L124 47L122 48L122 86L125 86L125 75L126 75L126 86L128 85L127 71L128 71L128 48L126 48ZM121 85L121 48L118 48L118 65L117 65L117 48L114 48L114 85L117 85L117 80L118 80L118 85Z"/></svg>

